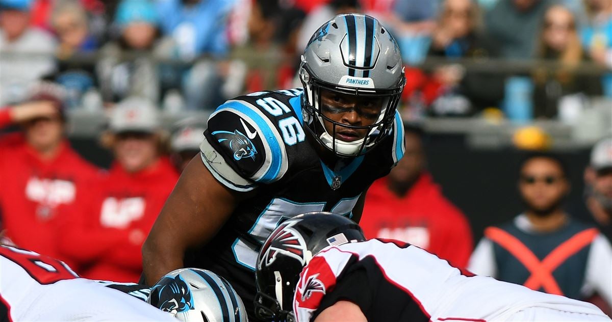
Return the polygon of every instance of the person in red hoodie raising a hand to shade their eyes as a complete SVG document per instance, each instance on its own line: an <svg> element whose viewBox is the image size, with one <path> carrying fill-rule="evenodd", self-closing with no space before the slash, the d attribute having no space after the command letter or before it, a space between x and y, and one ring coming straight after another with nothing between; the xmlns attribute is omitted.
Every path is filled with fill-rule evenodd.
<svg viewBox="0 0 612 322"><path fill-rule="evenodd" d="M98 170L65 138L61 88L44 83L28 102L0 109L0 221L17 246L62 258L57 224L92 186Z"/></svg>

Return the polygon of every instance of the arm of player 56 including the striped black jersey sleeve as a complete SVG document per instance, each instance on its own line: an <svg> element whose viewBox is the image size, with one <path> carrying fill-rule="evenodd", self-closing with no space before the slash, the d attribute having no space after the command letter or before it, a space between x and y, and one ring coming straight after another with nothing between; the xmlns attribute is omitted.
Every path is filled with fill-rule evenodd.
<svg viewBox="0 0 612 322"><path fill-rule="evenodd" d="M147 284L182 268L187 249L211 240L259 184L282 176L286 155L277 136L269 121L247 104L226 103L211 115L200 155L182 172L144 242Z"/></svg>

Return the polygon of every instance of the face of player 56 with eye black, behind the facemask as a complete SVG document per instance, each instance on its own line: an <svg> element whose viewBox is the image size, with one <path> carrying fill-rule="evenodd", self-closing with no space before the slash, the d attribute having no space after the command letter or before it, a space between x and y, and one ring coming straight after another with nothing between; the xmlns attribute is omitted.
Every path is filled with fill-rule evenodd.
<svg viewBox="0 0 612 322"><path fill-rule="evenodd" d="M372 125L378 120L382 109L383 98L359 97L321 90L321 114L343 125ZM325 119L323 123L327 133L334 135L334 124ZM335 133L336 139L353 142L364 138L368 134L368 129L336 126Z"/></svg>

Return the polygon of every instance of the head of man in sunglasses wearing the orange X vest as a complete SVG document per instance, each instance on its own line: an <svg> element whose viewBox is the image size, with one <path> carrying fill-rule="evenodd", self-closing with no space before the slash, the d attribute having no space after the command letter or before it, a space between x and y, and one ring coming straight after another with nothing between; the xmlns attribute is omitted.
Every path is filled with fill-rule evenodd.
<svg viewBox="0 0 612 322"><path fill-rule="evenodd" d="M530 210L542 214L556 210L569 191L563 170L548 158L527 161L521 170L518 186Z"/></svg>

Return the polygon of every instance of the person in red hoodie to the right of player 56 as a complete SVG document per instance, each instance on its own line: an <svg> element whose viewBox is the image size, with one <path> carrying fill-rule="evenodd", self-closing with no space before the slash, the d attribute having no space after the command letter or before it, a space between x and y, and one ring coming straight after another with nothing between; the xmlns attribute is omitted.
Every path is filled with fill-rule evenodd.
<svg viewBox="0 0 612 322"><path fill-rule="evenodd" d="M368 189L359 225L367 238L405 241L465 268L471 229L425 169L422 136L420 128L406 126L404 157Z"/></svg>

